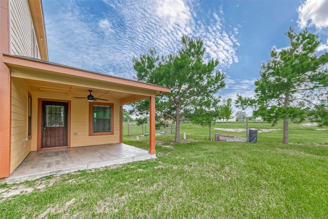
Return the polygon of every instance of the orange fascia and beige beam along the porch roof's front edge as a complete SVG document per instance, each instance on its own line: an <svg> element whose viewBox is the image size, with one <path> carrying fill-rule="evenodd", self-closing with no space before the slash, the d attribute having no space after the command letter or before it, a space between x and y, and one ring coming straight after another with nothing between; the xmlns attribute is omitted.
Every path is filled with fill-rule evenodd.
<svg viewBox="0 0 328 219"><path fill-rule="evenodd" d="M3 54L3 62L11 69L11 76L38 81L48 81L135 94L135 98L123 99L133 103L147 97L170 93L169 88L133 81L126 78L64 66L40 59Z"/></svg>

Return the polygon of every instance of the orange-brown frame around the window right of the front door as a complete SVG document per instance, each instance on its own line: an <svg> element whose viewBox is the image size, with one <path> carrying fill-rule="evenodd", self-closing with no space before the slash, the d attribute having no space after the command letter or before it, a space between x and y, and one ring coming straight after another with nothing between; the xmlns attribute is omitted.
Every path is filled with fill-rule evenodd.
<svg viewBox="0 0 328 219"><path fill-rule="evenodd" d="M111 107L111 129L110 132L93 132L93 105L99 105L99 106L110 106ZM95 103L90 102L89 103L89 136L95 136L95 135L113 135L114 134L114 104L112 103Z"/></svg>

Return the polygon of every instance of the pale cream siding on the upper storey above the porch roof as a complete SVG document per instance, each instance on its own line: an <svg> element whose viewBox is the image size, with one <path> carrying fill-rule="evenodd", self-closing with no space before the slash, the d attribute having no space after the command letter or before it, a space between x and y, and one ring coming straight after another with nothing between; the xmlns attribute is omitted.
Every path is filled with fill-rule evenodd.
<svg viewBox="0 0 328 219"><path fill-rule="evenodd" d="M10 0L11 53L32 56L32 17L27 0Z"/></svg>

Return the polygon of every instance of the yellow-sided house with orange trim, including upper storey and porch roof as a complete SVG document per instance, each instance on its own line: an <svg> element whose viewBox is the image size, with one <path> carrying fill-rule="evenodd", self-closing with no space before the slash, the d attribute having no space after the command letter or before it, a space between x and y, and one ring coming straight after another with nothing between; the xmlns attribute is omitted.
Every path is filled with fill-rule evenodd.
<svg viewBox="0 0 328 219"><path fill-rule="evenodd" d="M121 143L122 106L147 98L156 153L155 96L170 89L49 62L41 0L1 0L0 30L0 178L31 151Z"/></svg>

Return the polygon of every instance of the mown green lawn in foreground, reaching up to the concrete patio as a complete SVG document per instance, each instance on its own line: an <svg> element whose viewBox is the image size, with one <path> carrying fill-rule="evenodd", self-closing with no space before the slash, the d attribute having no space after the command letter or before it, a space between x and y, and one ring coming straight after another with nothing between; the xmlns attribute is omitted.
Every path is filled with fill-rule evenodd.
<svg viewBox="0 0 328 219"><path fill-rule="evenodd" d="M0 185L0 218L326 218L328 147L173 138L154 160Z"/></svg>

